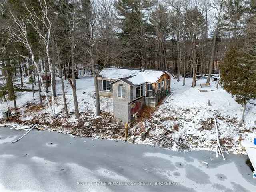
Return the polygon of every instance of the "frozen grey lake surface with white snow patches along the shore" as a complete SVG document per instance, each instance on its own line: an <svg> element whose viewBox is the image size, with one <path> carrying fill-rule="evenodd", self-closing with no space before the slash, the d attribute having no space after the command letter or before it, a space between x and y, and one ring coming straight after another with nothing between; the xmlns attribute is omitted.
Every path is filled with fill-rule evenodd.
<svg viewBox="0 0 256 192"><path fill-rule="evenodd" d="M256 191L246 156L0 127L0 191ZM206 165L208 162L208 165Z"/></svg>

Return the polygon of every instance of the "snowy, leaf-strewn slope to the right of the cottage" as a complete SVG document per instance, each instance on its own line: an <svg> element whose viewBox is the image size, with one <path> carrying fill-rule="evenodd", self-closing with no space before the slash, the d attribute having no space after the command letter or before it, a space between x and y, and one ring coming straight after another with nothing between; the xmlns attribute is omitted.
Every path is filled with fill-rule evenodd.
<svg viewBox="0 0 256 192"><path fill-rule="evenodd" d="M245 123L239 126L242 106L221 86L217 89L217 82L211 82L210 88L200 88L199 84L205 83L205 79L197 80L195 88L191 87L192 78L186 78L185 82L186 85L182 86L183 78L180 82L172 79L172 94L164 100L152 118L146 121L148 138L142 142L137 137L137 142L157 144L173 150L215 150L213 118L216 118L220 143L224 149L234 153L242 152L240 140L253 141L256 137L256 101L251 100L247 104ZM208 106L209 99L211 106ZM134 134L139 131L140 129L134 128Z"/></svg>

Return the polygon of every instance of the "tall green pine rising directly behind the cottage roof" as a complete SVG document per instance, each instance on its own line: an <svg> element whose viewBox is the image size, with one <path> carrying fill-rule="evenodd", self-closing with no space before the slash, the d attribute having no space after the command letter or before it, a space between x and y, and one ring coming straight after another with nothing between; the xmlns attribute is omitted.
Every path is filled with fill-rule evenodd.
<svg viewBox="0 0 256 192"><path fill-rule="evenodd" d="M145 12L150 11L155 3L154 0L118 0L116 2L119 27L122 30L119 36L123 43L130 46L126 58L142 68L147 64L146 33L148 30L148 16Z"/></svg>

